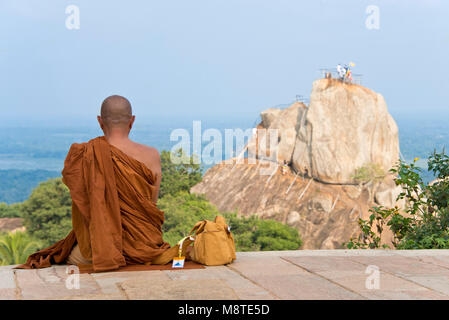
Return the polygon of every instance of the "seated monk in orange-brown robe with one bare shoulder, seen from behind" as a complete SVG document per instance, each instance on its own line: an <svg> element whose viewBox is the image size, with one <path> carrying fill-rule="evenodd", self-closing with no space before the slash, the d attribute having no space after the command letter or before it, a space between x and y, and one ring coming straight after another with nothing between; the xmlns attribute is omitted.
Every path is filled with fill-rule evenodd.
<svg viewBox="0 0 449 320"><path fill-rule="evenodd" d="M101 272L130 264L166 264L178 254L178 246L170 248L162 239L164 213L156 206L159 153L129 139L134 120L126 98L115 95L103 101L98 122L104 136L73 144L64 162L62 181L72 197L73 230L18 268L69 263Z"/></svg>

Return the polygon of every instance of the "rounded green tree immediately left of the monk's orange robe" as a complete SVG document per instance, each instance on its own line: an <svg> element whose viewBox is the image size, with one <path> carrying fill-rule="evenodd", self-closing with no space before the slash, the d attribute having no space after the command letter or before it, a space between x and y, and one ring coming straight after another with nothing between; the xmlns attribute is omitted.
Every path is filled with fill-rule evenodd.
<svg viewBox="0 0 449 320"><path fill-rule="evenodd" d="M70 232L71 212L72 199L61 178L39 184L22 206L27 231L44 246L52 245Z"/></svg>

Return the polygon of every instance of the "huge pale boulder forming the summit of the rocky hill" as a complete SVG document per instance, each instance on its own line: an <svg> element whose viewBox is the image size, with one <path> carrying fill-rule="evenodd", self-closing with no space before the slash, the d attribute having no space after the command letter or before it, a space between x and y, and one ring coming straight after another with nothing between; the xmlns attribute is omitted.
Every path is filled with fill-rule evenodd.
<svg viewBox="0 0 449 320"><path fill-rule="evenodd" d="M325 183L353 184L357 169L388 172L399 159L398 127L384 98L359 85L320 79L308 107L294 103L261 117L261 128L279 130L277 161Z"/></svg>

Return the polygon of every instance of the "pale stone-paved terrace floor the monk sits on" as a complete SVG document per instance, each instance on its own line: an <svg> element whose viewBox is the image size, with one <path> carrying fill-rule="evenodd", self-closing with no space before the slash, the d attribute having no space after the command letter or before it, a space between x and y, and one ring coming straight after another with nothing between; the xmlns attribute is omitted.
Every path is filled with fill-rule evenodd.
<svg viewBox="0 0 449 320"><path fill-rule="evenodd" d="M0 299L449 299L449 250L241 252L229 266L81 274L79 289L65 265L12 267Z"/></svg>

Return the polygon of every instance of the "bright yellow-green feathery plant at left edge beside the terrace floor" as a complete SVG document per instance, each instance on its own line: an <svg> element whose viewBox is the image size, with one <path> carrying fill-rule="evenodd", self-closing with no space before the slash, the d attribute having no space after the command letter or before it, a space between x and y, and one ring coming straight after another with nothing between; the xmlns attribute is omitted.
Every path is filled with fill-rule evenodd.
<svg viewBox="0 0 449 320"><path fill-rule="evenodd" d="M41 244L26 232L9 232L0 236L0 265L22 264Z"/></svg>

